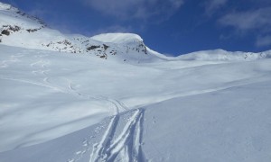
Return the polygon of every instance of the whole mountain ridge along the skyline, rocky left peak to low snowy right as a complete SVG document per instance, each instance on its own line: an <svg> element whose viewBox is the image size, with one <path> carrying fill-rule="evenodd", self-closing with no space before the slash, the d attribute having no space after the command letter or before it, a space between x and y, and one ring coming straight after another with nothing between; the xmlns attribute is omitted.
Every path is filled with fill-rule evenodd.
<svg viewBox="0 0 271 162"><path fill-rule="evenodd" d="M39 18L24 14L10 4L0 3L0 14L0 43L15 47L84 53L131 63L177 59L247 61L271 56L271 50L253 53L213 49L167 57L149 49L144 40L135 33L102 33L88 38L52 30Z"/></svg>

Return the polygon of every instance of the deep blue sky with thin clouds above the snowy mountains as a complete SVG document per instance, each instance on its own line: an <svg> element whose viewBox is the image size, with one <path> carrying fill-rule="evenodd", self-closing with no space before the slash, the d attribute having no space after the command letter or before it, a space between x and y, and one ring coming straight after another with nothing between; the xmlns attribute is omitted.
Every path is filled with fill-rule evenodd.
<svg viewBox="0 0 271 162"><path fill-rule="evenodd" d="M134 32L161 53L271 49L270 0L2 0L62 32Z"/></svg>

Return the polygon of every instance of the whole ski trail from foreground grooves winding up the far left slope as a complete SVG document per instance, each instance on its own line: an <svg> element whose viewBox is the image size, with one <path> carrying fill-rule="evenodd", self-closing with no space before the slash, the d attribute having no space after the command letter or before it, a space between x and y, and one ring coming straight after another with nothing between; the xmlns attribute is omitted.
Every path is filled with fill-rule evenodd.
<svg viewBox="0 0 271 162"><path fill-rule="evenodd" d="M137 109L130 120L126 123L126 126L123 128L122 132L117 135L117 125L119 121L119 112L129 110L125 103L118 101L107 96L99 95L93 96L89 94L82 94L73 86L74 84L70 79L66 78L68 85L60 86L53 85L49 81L48 72L51 71L49 66L51 62L47 59L44 59L46 56L37 55L35 58L39 58L38 61L30 64L31 67L37 68L33 70L32 73L35 76L42 76L43 83L33 83L23 79L14 79L12 80L22 81L31 83L34 85L42 85L55 90L59 90L62 93L75 94L79 97L83 97L89 100L104 100L111 103L114 106L114 116L111 118L107 130L101 141L98 144L94 144L92 148L92 153L90 156L90 161L115 161L117 158L125 161L145 161L144 153L142 151L142 133L143 133L143 121L144 121L144 110ZM100 130L102 128L98 128ZM93 136L90 137L92 139ZM79 161L90 150L89 140L84 140L82 150L75 152L74 158L69 159L70 162Z"/></svg>

